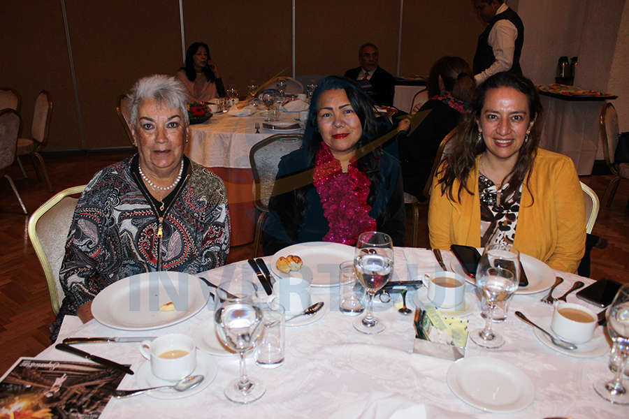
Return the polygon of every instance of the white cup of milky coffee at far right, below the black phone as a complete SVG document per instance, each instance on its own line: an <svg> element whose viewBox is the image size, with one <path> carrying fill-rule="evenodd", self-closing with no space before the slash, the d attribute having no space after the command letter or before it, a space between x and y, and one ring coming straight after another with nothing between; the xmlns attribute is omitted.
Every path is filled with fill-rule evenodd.
<svg viewBox="0 0 629 419"><path fill-rule="evenodd" d="M587 307L572 302L555 302L551 329L558 337L573 344L592 339L597 324L596 315Z"/></svg>

